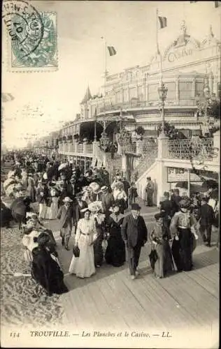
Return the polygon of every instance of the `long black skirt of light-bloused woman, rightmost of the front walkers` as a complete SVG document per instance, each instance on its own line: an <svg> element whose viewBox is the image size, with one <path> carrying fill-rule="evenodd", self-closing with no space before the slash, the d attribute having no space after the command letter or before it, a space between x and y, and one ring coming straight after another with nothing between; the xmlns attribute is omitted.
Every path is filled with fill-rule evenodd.
<svg viewBox="0 0 221 349"><path fill-rule="evenodd" d="M192 269L192 252L194 250L194 235L190 229L178 228L179 239L173 239L172 254L178 272Z"/></svg>

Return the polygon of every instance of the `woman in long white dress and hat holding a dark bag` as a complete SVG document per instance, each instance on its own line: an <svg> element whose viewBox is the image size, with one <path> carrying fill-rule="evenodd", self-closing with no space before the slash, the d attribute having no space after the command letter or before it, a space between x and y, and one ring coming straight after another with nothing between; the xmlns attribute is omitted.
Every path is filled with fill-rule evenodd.
<svg viewBox="0 0 221 349"><path fill-rule="evenodd" d="M97 237L97 230L94 219L90 218L91 211L83 209L85 218L78 221L76 230L75 245L80 249L79 257L71 260L69 267L70 274L76 274L79 278L89 278L95 274L94 267L94 240Z"/></svg>

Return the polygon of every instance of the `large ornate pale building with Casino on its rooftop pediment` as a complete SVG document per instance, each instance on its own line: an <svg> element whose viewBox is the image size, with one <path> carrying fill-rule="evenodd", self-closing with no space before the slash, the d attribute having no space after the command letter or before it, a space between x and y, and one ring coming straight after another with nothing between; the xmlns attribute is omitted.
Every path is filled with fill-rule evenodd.
<svg viewBox="0 0 221 349"><path fill-rule="evenodd" d="M220 47L212 26L199 42L190 35L183 22L180 33L162 55L162 80L168 89L165 121L187 138L201 133L204 120L196 116L196 112L205 84L210 94L220 98ZM142 126L145 139L156 139L162 122L157 91L159 72L160 60L156 54L145 66L125 68L114 75L106 73L101 96L93 96L87 87L80 103L80 114L60 131L58 153L62 159L78 161L85 169L95 163L110 167L110 154L99 147L99 140L115 142L119 125L128 131ZM137 151L129 149L128 152L134 153L132 160L127 158L134 170L138 165ZM115 168L124 168L125 161L123 156L116 156ZM109 170L111 172L113 168Z"/></svg>

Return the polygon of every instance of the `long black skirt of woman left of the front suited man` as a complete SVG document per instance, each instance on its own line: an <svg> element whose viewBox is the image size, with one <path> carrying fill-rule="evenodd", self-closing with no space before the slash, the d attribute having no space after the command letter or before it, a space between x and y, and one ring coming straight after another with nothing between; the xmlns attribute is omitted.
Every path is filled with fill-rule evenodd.
<svg viewBox="0 0 221 349"><path fill-rule="evenodd" d="M110 235L105 253L106 262L113 267L121 267L126 260L125 244L120 235Z"/></svg>

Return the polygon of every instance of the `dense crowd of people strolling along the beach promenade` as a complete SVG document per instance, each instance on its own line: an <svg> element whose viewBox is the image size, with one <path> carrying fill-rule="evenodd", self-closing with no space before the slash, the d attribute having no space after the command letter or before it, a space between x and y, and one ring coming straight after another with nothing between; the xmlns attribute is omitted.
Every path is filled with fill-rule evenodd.
<svg viewBox="0 0 221 349"><path fill-rule="evenodd" d="M57 243L53 232L45 228L45 219L59 220L62 246L67 251L73 248L69 274L80 278L95 274L104 260L120 267L127 255L131 279L136 279L141 248L146 244L147 260L160 279L171 272L192 269L199 232L205 244L211 246L211 229L218 225L219 211L218 202L215 207L209 205L211 190L203 198L188 198L185 193L180 196L178 189L165 192L159 213L155 214L155 226L148 231L136 202L136 185L120 172L110 183L106 168L90 168L84 173L77 165L60 164L34 154L14 161L8 174L8 179L14 181L15 195L10 214L20 223L24 258L31 265L31 275L48 295L68 289L59 265ZM153 191L148 177L149 206L153 205ZM35 202L38 214L31 209ZM127 209L131 209L129 214Z"/></svg>

